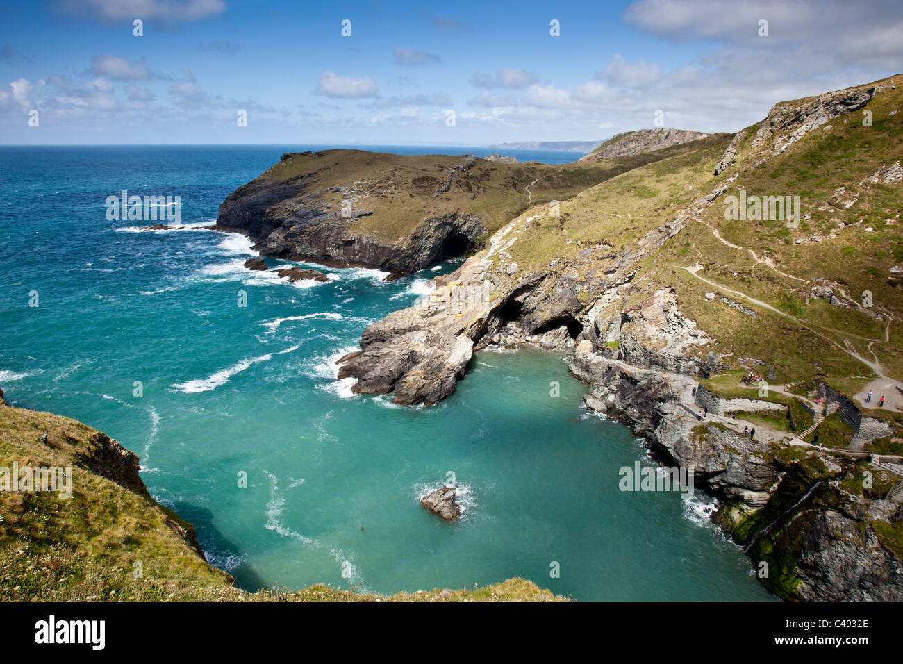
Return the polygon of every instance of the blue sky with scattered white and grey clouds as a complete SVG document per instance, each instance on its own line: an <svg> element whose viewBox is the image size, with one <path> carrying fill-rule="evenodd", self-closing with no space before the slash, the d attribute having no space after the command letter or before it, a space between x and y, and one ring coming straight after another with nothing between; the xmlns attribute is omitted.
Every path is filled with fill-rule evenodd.
<svg viewBox="0 0 903 664"><path fill-rule="evenodd" d="M0 145L734 132L903 71L901 0L51 0L0 15Z"/></svg>

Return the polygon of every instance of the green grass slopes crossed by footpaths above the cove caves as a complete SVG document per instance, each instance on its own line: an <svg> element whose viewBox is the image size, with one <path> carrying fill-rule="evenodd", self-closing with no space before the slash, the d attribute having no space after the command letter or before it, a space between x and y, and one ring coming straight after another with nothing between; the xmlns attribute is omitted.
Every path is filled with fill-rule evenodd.
<svg viewBox="0 0 903 664"><path fill-rule="evenodd" d="M618 252L689 214L681 232L642 260L625 306L656 288L673 288L681 312L714 338L700 356L722 353L738 368L740 358L757 358L774 366L775 383L825 376L854 393L867 382L855 377L872 374L855 355L877 358L887 375L903 379L903 275L891 272L903 264L903 186L863 182L903 155L903 112L896 112L903 111L903 76L880 83L897 89L816 126L784 152L773 149L780 132L753 146L759 123L740 136L736 164L719 175L715 166L731 136L679 145L680 154L600 182L563 202L560 218L536 206L523 215L535 219L510 251L530 270L563 258L589 283L607 264L600 259L594 266L586 249L595 256L600 248ZM812 99L778 106L797 108ZM871 112L871 126L862 125L862 110ZM723 187L711 205L694 209L694 201ZM725 201L741 188L748 196L798 196L799 227L727 220ZM686 269L694 266L701 266L695 275ZM817 296L825 285L833 300ZM866 291L872 303L857 308ZM707 292L726 295L758 318L706 300Z"/></svg>

